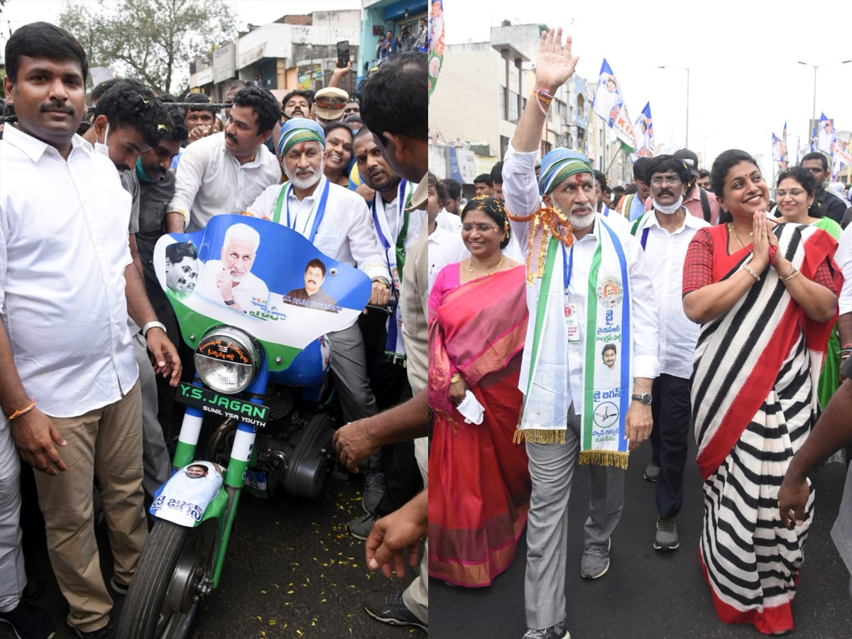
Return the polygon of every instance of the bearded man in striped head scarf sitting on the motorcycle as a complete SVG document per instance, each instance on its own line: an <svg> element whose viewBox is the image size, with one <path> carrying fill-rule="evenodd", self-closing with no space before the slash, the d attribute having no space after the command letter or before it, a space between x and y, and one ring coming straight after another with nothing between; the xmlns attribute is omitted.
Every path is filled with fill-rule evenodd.
<svg viewBox="0 0 852 639"><path fill-rule="evenodd" d="M369 303L384 306L390 299L390 273L372 230L370 210L360 195L328 181L323 174L324 150L325 135L319 124L307 118L288 120L281 126L278 153L290 181L268 187L245 212L284 224L325 255L359 268L373 282ZM375 415L376 400L357 321L328 337L335 354L331 374L343 418L352 422Z"/></svg>

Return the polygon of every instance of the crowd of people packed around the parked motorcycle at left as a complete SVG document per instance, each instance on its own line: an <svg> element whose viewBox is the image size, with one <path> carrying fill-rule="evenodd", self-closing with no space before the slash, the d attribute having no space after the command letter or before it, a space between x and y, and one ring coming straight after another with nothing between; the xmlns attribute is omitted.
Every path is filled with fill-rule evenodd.
<svg viewBox="0 0 852 639"><path fill-rule="evenodd" d="M227 214L290 227L371 280L370 310L327 336L345 424L335 442L365 476L366 515L349 532L366 540L371 569L401 576L417 560L427 518L426 55L384 60L357 97L339 88L351 63L331 86L280 102L236 80L223 112L205 95L178 101L133 78L99 84L89 106L86 51L46 22L17 29L5 62L0 627L26 639L55 632L32 602L37 584L21 553L23 459L35 471L67 624L83 639L114 636L112 597L128 591L150 525L145 505L172 472L174 387L194 375L154 247L165 233L193 233ZM262 241L245 224L230 227L210 281L193 266L193 245L172 245L180 250L167 251L168 287L185 295L212 287L223 308L245 313ZM302 296L322 302L314 280L324 276L323 262L309 262ZM371 595L367 613L426 629L425 564L421 572L403 593Z"/></svg>

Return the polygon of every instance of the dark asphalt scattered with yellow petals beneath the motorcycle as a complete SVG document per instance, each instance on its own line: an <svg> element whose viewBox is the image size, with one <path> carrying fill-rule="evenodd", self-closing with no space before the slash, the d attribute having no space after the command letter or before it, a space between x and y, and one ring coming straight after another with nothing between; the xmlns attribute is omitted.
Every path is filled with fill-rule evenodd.
<svg viewBox="0 0 852 639"><path fill-rule="evenodd" d="M331 475L314 502L244 494L228 546L222 580L199 610L193 639L401 639L425 636L417 629L384 625L364 612L372 590L402 590L412 579L391 582L366 568L364 542L350 537L346 522L363 514L360 480ZM50 569L39 531L27 540L27 573L46 585L37 604L49 609L56 639L75 635L66 625L68 607ZM112 561L106 527L97 528L101 567ZM120 608L123 597L115 597ZM3 637L5 639L5 637Z"/></svg>

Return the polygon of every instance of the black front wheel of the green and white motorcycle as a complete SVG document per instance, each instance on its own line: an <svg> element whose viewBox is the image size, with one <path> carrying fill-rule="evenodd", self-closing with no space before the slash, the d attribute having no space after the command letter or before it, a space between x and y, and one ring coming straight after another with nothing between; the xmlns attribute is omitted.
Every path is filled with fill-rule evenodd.
<svg viewBox="0 0 852 639"><path fill-rule="evenodd" d="M118 639L183 639L210 576L216 521L187 528L158 520L130 582Z"/></svg>

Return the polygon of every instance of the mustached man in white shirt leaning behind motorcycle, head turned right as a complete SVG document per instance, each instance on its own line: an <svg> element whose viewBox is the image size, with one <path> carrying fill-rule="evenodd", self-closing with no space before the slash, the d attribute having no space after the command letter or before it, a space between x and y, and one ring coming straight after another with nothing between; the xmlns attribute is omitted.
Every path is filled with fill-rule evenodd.
<svg viewBox="0 0 852 639"><path fill-rule="evenodd" d="M213 216L239 213L279 183L278 160L263 145L278 120L278 101L268 90L246 87L234 96L225 130L181 155L166 213L169 233L194 233Z"/></svg>

